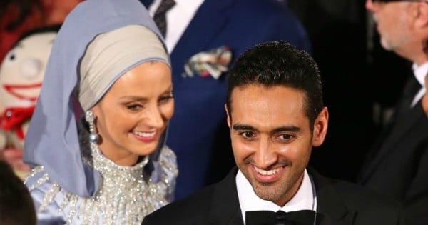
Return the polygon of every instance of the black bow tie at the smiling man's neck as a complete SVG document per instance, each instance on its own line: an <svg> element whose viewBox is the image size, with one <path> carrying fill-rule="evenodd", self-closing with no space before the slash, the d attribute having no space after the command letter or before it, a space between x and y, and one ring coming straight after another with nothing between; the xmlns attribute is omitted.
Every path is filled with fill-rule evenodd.
<svg viewBox="0 0 428 225"><path fill-rule="evenodd" d="M246 225L313 225L315 211L247 211L245 212Z"/></svg>

